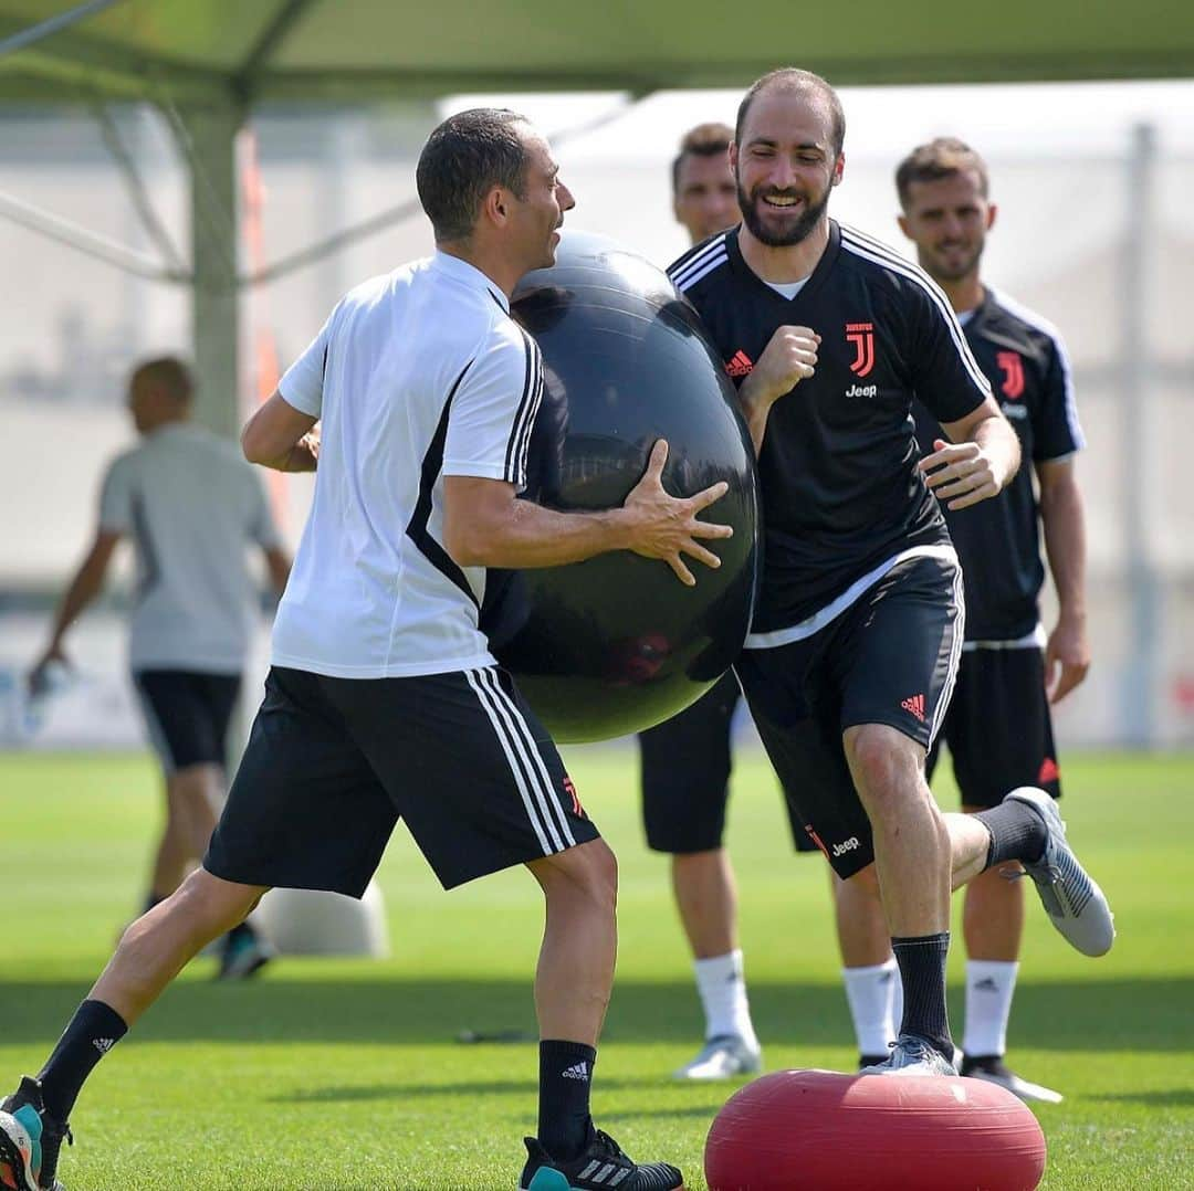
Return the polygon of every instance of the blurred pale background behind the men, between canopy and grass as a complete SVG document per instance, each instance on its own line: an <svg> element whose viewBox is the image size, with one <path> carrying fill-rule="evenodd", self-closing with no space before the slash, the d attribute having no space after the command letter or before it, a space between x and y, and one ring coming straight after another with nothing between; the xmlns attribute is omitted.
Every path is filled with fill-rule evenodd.
<svg viewBox="0 0 1194 1191"><path fill-rule="evenodd" d="M1194 743L1194 496L1186 475L1194 442L1194 84L842 94L847 174L831 211L907 252L894 222L896 163L921 141L961 136L986 156L1001 208L987 280L1055 322L1069 343L1089 443L1078 470L1095 665L1064 705L1060 734L1067 745ZM613 93L473 95L258 109L240 142L248 183L241 270L283 267L252 286L244 304L244 407L272 388L277 365L301 351L345 289L431 249L413 165L449 110L498 101L527 111L555 135L578 200L568 224L665 265L685 247L669 181L681 132L703 119L733 123L739 95L661 92L638 104ZM160 236L137 215L139 185ZM0 746L140 745L118 616L127 566L106 605L75 631L82 680L49 709L39 732L30 736L17 722L10 695L90 539L103 468L133 442L123 408L130 364L191 352L183 284L130 271L131 257L119 267L99 259L92 254L99 241L82 252L64 240L78 239L78 226L146 259L161 257L165 242L180 246L173 251L185 265L190 218L185 169L155 109L2 110ZM359 234L336 239L352 229ZM309 481L279 479L272 496L293 544ZM263 621L259 666L264 634Z"/></svg>

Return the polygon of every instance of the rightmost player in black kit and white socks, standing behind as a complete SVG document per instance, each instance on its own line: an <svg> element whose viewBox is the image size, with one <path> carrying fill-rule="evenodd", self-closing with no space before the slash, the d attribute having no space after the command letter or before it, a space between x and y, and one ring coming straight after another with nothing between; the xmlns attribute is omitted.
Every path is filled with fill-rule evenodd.
<svg viewBox="0 0 1194 1191"><path fill-rule="evenodd" d="M979 278L996 208L987 199L986 166L973 149L948 137L922 144L900 162L896 186L900 228L964 322L1023 456L1034 464L1032 471L1021 469L998 500L946 516L965 575L966 644L941 738L949 746L964 810L995 806L1007 790L1026 784L1059 797L1050 703L1077 686L1090 665L1085 529L1073 469L1083 437L1065 346L1048 322ZM915 413L921 449L930 452L941 428L923 407ZM1047 638L1039 607L1045 581L1039 525L1058 597L1057 624ZM930 773L935 760L936 751ZM1024 919L1023 889L1004 876L992 870L966 889L970 958L961 1070L1024 1099L1055 1101L1060 1096L1022 1080L1003 1061ZM847 884L839 888L839 903L856 900ZM873 901L839 914L843 943L857 948L874 938L876 919ZM880 948L872 961L885 952Z"/></svg>

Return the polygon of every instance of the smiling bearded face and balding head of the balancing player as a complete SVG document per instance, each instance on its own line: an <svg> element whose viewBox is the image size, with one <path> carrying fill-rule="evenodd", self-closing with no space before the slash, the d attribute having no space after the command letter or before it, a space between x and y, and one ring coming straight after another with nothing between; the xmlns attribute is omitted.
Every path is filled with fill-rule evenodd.
<svg viewBox="0 0 1194 1191"><path fill-rule="evenodd" d="M731 160L738 205L751 235L773 248L800 243L842 179L832 113L818 94L769 87L756 95Z"/></svg>

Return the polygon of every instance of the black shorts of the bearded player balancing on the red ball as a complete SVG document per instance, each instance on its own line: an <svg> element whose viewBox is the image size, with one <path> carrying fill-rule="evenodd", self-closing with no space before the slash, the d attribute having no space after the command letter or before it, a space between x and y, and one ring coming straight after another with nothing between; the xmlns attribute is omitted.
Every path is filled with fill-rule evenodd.
<svg viewBox="0 0 1194 1191"><path fill-rule="evenodd" d="M875 853L842 734L884 723L928 749L949 704L962 621L958 563L907 559L813 636L747 649L736 666L786 797L843 878Z"/></svg>

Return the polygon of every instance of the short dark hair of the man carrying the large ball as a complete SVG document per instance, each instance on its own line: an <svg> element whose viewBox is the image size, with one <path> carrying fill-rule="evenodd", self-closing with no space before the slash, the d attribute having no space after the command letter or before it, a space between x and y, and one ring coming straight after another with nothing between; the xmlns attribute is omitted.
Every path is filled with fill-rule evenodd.
<svg viewBox="0 0 1194 1191"><path fill-rule="evenodd" d="M525 197L527 146L515 128L525 123L504 107L473 107L449 116L427 137L414 179L437 242L467 240L494 186Z"/></svg>

